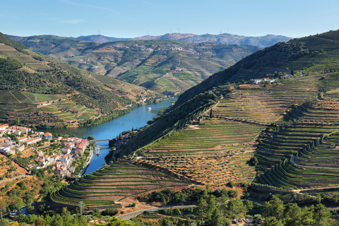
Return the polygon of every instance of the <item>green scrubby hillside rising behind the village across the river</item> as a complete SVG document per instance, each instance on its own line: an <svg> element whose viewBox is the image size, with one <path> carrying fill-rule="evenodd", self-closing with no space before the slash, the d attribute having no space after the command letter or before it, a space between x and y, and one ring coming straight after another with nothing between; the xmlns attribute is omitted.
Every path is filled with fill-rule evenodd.
<svg viewBox="0 0 339 226"><path fill-rule="evenodd" d="M50 59L8 42L0 33L0 119L24 124L77 126L117 117L137 105L139 96L156 95L145 88L100 76ZM18 52L13 47L20 49ZM133 91L132 91L133 90Z"/></svg>

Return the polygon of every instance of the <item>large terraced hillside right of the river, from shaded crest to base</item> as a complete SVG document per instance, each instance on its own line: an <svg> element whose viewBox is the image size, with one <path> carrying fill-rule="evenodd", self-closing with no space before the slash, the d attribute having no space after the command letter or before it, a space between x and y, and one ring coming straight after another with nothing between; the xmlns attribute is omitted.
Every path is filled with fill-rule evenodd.
<svg viewBox="0 0 339 226"><path fill-rule="evenodd" d="M338 33L278 43L215 73L140 129L129 147L143 157L138 160L143 165L170 169L196 183L251 182L258 174L253 185L270 189L337 187L338 162L331 157L337 148L328 143L331 138L321 139L339 130ZM291 71L295 76L283 77ZM231 84L267 74L275 83ZM206 155L210 164L185 167ZM213 167L219 161L224 165ZM204 174L199 167L213 171Z"/></svg>

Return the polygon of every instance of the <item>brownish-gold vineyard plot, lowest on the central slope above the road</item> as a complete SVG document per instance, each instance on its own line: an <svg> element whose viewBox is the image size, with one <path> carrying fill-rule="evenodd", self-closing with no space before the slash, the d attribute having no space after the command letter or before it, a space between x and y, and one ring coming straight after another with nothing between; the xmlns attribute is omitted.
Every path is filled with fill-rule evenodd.
<svg viewBox="0 0 339 226"><path fill-rule="evenodd" d="M256 177L248 164L251 155L191 155L181 157L149 157L136 164L175 174L177 177L211 186L226 186L228 182L248 182Z"/></svg>

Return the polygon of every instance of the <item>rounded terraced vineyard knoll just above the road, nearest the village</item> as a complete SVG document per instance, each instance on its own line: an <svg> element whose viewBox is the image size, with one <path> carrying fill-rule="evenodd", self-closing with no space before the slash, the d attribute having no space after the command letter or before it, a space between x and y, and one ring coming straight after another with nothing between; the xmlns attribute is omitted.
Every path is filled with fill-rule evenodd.
<svg viewBox="0 0 339 226"><path fill-rule="evenodd" d="M153 169L112 164L54 192L51 198L54 202L74 206L78 206L79 201L83 201L86 206L108 206L136 194L187 185Z"/></svg>

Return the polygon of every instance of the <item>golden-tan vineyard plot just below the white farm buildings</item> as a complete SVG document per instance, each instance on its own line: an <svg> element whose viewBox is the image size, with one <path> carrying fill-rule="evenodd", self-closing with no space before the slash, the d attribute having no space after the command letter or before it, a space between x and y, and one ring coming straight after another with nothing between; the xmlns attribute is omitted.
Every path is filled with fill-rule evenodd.
<svg viewBox="0 0 339 226"><path fill-rule="evenodd" d="M220 101L214 114L216 117L270 124L281 119L292 106L316 97L317 92L314 84L303 83L297 87L291 81L265 89L234 90Z"/></svg>

